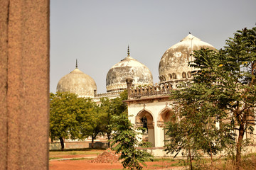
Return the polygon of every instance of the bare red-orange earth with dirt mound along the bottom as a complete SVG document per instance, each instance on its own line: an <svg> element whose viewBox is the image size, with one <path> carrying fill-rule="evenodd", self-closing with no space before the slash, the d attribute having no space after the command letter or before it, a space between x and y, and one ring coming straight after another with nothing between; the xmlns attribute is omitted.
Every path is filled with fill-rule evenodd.
<svg viewBox="0 0 256 170"><path fill-rule="evenodd" d="M68 158L93 157L95 155L68 155ZM144 169L175 169L170 166L175 162L146 162ZM83 169L122 169L122 164L118 161L118 155L112 152L103 152L97 158L89 160L50 160L50 170L83 170Z"/></svg>

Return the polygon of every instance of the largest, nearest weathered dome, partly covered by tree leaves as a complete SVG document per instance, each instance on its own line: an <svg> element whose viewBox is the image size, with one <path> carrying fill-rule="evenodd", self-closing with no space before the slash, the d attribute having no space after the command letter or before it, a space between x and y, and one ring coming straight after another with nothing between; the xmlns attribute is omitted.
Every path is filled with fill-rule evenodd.
<svg viewBox="0 0 256 170"><path fill-rule="evenodd" d="M188 34L181 42L176 43L176 45L166 50L159 63L160 81L176 81L191 78L193 67L188 67L188 62L193 60L191 52L193 50L201 50L201 48L215 50L213 45Z"/></svg>

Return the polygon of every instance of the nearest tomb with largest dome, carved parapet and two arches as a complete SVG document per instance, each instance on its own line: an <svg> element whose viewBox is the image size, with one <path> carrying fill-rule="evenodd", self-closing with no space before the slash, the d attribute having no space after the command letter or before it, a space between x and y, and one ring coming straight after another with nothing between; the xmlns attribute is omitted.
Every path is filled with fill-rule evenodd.
<svg viewBox="0 0 256 170"><path fill-rule="evenodd" d="M181 82L193 79L193 68L188 67L188 62L193 61L193 50L201 50L202 47L215 50L212 45L189 34L166 50L159 62L160 82L155 86L134 89L132 77L127 79L128 100L125 102L128 104L128 114L131 115L129 120L136 127L142 127L144 120L148 133L142 139L151 142L154 156L166 154L163 152L166 140L164 125L174 113L174 101L169 99L169 94L171 90L179 89Z"/></svg>

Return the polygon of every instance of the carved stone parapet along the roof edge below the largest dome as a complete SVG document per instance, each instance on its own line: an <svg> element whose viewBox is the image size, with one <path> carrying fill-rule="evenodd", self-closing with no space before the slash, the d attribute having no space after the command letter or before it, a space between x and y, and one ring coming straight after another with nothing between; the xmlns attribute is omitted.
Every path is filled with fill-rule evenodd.
<svg viewBox="0 0 256 170"><path fill-rule="evenodd" d="M132 89L129 88L128 96L130 98L141 98L143 96L155 96L155 95L166 95L171 94L172 84L157 84L156 86L142 86Z"/></svg>

